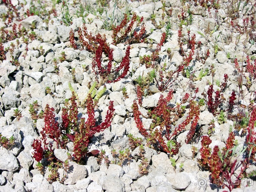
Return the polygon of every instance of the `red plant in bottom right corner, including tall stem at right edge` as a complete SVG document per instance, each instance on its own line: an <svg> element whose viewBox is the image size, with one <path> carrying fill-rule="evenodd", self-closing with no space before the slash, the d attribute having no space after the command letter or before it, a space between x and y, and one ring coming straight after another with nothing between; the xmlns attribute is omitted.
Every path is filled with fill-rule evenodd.
<svg viewBox="0 0 256 192"><path fill-rule="evenodd" d="M253 107L249 124L247 127L247 136L245 140L245 146L242 147L239 152L237 151L238 145L235 145L234 132L229 133L229 137L226 141L225 148L222 151L218 146L211 149L211 139L208 136L202 136L201 140L201 159L198 159L201 168L210 170L211 183L218 187L227 187L229 191L234 188L239 188L243 177L246 177L246 169L252 162L255 162L256 153L256 133L254 131L256 121L256 107ZM235 158L235 155L237 156ZM243 157L242 160L238 160L238 157ZM236 171L240 168L240 171ZM234 173L236 171L235 177Z"/></svg>

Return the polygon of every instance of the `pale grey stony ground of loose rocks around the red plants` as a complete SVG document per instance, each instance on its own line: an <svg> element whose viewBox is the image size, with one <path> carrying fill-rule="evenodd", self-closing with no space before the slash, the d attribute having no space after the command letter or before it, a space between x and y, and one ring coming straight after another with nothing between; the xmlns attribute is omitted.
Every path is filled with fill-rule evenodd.
<svg viewBox="0 0 256 192"><path fill-rule="evenodd" d="M136 13L138 19L123 42L111 44L111 27L121 23L124 13L130 18ZM247 167L241 164L248 160L250 151L245 149L242 152L249 145L246 135L250 128L255 129L253 123L249 124L250 117L252 122L255 121L254 115L251 115L256 99L255 2L2 0L0 14L0 191L229 191L237 185L228 184L224 179L228 176L224 173L220 173L223 178L218 180L223 183L213 184L213 170L211 167L203 168L199 160L202 159L200 149L203 135L208 135L212 140L209 148L213 151L214 146L227 149L230 132L234 133L232 141L237 147L233 149L232 156L225 157L230 169L222 166L220 170L236 181L241 170L246 168L241 174L243 178L238 178L242 182L240 188L232 191L256 190L253 157L246 164ZM141 17L143 21L140 23ZM96 53L83 46L79 39L78 27L82 28L83 23L93 36L105 34L106 42L113 49L113 71L120 66L130 44L129 70L124 78L114 82L116 77L105 79L95 75L92 61ZM134 35L134 31L142 30L143 23L145 33L139 39L141 42L126 41ZM70 39L71 29L77 49L74 49ZM120 31L118 36L123 33ZM161 44L163 33L166 38ZM193 34L194 50L191 46ZM184 49L184 54L181 49ZM159 58L154 61L155 66L152 60L142 61L143 56L152 55L156 50L159 51ZM168 76L177 71L190 56L191 60L180 73ZM102 64L106 66L108 57L103 54L102 58ZM150 79L149 74L153 70L156 76ZM163 72L162 79L159 72ZM121 73L122 70L118 75ZM224 74L228 75L225 89L222 88ZM167 82L169 78L172 79L171 84L160 89L159 84ZM90 116L87 113L88 105L83 103L94 82L97 82L96 93L104 89L94 110L97 124L104 122L109 101L114 101L115 109L111 126L95 133L90 140L88 152L98 150L97 153L100 153L87 153L85 160L78 163L72 157L72 139L67 139L66 147L61 149L48 135L47 142L53 143L54 159L47 158L44 152L40 170L32 148L35 139L42 140L40 132L46 126L43 116L39 116L40 110L45 111L46 104L53 107L56 121L61 126L62 108L67 106L65 100L71 98L74 91L78 110L74 118L78 124L81 117L87 120ZM144 94L141 105L138 85L143 88ZM218 100L215 97L217 90L223 94L219 97L222 101L217 104L215 111L209 107L211 104L207 92L211 85L214 90L213 102ZM173 97L167 104L173 109L176 107L172 112L178 117L168 125L171 128L170 135L191 115L191 100L196 101L195 105L199 107L198 115L192 114L198 117L193 139L186 143L194 118L189 119L184 129L171 138L176 147L180 144L177 154L170 154L170 148L175 148L170 143L169 151L166 152L159 144L160 139L151 142L158 147L150 145L147 141L150 137L143 136L137 128L138 122L132 109L135 100L143 127L151 134L151 126L154 125L154 131L160 130L162 136L159 138L164 139L164 145L168 146L166 125L160 126L163 116L157 120L150 115L149 110L155 109L160 95L165 98L170 90L173 90ZM232 110L229 110L232 92L236 97ZM183 101L186 93L189 97ZM35 101L37 108L33 108ZM180 112L177 106L183 106ZM255 143L256 136L252 132L254 140L250 142ZM130 134L134 138L141 138L143 149L138 146L132 148L128 137ZM255 153L255 144L250 146L252 154ZM104 157L110 161L109 165L106 159L99 161L103 150ZM219 157L224 158L221 153ZM209 159L212 157L213 154ZM55 163L52 167L49 166L51 161ZM64 166L65 161L67 167ZM216 161L220 164L224 162L221 158Z"/></svg>

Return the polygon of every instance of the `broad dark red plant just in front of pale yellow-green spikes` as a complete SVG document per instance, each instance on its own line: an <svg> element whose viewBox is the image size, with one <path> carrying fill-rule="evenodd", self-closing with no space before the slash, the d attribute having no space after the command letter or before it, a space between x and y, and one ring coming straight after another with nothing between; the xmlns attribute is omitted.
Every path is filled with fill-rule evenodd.
<svg viewBox="0 0 256 192"><path fill-rule="evenodd" d="M66 107L62 109L62 124L59 126L55 120L54 108L50 108L47 104L44 110L44 127L40 132L42 135L41 140L34 140L32 147L34 149L33 157L36 161L41 161L42 158L48 158L49 161L56 159L53 155L52 141L56 142L57 149L59 147L65 148L68 139L74 143L74 157L79 163L84 163L84 157L88 153L87 146L90 143L90 139L96 132L103 131L111 124L114 115L113 101L110 101L107 110L105 121L99 125L96 125L94 119L94 103L90 94L86 103L88 119L82 118L78 124L77 120L77 104L76 96L74 92L70 98L70 105L66 102ZM71 134L71 132L73 132ZM47 140L47 137L52 141ZM43 143L43 148L41 146Z"/></svg>

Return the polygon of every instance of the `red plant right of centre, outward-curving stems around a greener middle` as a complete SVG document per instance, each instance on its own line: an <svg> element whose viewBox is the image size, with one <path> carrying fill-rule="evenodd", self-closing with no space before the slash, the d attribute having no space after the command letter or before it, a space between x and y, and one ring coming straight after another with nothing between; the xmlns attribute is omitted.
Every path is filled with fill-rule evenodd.
<svg viewBox="0 0 256 192"><path fill-rule="evenodd" d="M163 95L160 95L157 106L152 110L149 110L149 118L152 119L149 131L143 127L139 117L141 113L138 110L136 101L133 102L132 109L136 126L139 129L139 132L147 139L148 145L154 147L156 150L175 155L179 152L180 147L180 143L177 142L176 136L183 131L185 126L188 125L195 116L192 122L193 130L188 134L187 142L189 142L194 135L194 129L198 121L199 105L192 99L190 102L189 116L182 124L171 131L171 125L174 125L175 122L184 115L183 113L185 110L181 108L181 105L186 103L189 97L189 94L186 94L180 104L175 107L170 107L168 103L172 99L172 94L173 90L170 90L167 97L164 98ZM170 145L170 143L172 143L172 145Z"/></svg>

